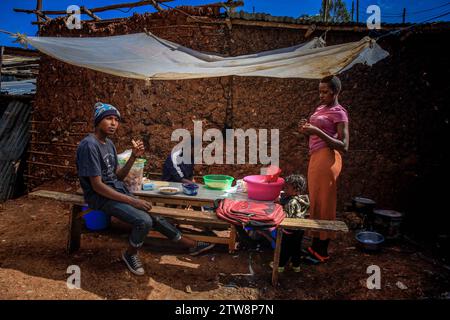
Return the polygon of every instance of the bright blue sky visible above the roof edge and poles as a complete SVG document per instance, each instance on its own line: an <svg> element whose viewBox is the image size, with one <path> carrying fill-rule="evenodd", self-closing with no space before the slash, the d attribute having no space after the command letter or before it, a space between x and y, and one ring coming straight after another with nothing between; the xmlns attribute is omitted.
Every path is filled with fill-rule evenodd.
<svg viewBox="0 0 450 320"><path fill-rule="evenodd" d="M218 2L219 0L174 0L168 2L170 6L180 5L200 5ZM344 0L349 11L351 10L352 0ZM131 0L43 0L44 10L63 10L69 5L84 5L87 8L101 7L105 5L134 2ZM244 7L237 10L247 12L264 12L274 16L291 16L299 17L302 14L314 15L320 10L321 0L244 0ZM360 0L360 21L365 21L367 14L366 8L369 5L377 4L381 8L382 22L398 23L401 22L401 14L403 8L406 8L406 22L422 22L432 17L450 13L450 1L448 0ZM35 35L37 26L32 25L31 21L36 20L35 15L16 13L13 8L34 9L35 0L0 0L0 29L10 32L26 33L27 35ZM440 7L439 7L440 6ZM356 0L355 0L356 7ZM355 8L356 10L356 8ZM98 13L102 19L127 17L134 12L154 12L151 6L143 6L134 8L128 13L118 10L106 11ZM83 16L83 18L86 18ZM355 15L356 19L356 15ZM440 21L449 21L450 14L435 19ZM434 20L431 20L434 21ZM18 46L12 42L13 40L3 33L0 33L0 45Z"/></svg>

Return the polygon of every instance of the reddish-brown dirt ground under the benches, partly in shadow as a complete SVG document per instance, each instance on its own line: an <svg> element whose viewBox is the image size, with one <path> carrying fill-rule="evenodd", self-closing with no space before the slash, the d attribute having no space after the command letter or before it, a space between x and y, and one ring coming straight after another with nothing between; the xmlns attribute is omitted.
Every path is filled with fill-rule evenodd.
<svg viewBox="0 0 450 320"><path fill-rule="evenodd" d="M46 189L73 192L63 182ZM450 270L404 241L380 253L360 251L354 233L332 242L332 260L285 271L270 284L273 252L217 245L191 257L167 240L148 239L146 275L120 260L129 228L117 220L106 232L83 234L80 250L65 252L69 206L24 196L0 206L0 299L427 299L450 298ZM307 244L307 241L305 245ZM81 270L81 289L66 285L68 266ZM369 290L367 267L381 270L381 289Z"/></svg>

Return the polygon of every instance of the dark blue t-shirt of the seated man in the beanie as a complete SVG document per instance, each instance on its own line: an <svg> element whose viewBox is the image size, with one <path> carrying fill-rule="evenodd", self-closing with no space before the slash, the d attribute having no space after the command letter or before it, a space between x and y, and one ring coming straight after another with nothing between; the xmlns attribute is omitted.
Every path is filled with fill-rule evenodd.
<svg viewBox="0 0 450 320"><path fill-rule="evenodd" d="M99 210L107 200L94 191L89 177L100 176L104 184L130 195L124 183L117 179L117 163L116 147L111 140L106 139L106 143L102 143L93 134L81 140L77 149L77 170L89 208Z"/></svg>

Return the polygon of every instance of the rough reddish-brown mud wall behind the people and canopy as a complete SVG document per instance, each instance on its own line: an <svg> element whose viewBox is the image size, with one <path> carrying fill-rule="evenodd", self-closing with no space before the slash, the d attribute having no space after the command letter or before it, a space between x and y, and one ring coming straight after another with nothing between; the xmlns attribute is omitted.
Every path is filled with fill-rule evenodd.
<svg viewBox="0 0 450 320"><path fill-rule="evenodd" d="M195 50L240 55L291 46L305 41L305 30L188 22L178 12L135 15L113 22L84 24L67 30L61 21L42 29L43 36L105 36L141 32ZM364 195L381 207L418 211L412 197L440 194L433 178L443 178L448 163L449 61L442 40L449 29L388 37L380 44L390 57L373 67L356 66L340 76L341 103L350 116L350 151L344 155L339 180L339 209L353 196ZM319 35L316 32L314 35ZM314 36L313 35L313 36ZM365 35L365 34L364 34ZM329 44L359 40L361 33L333 31ZM445 78L444 78L445 79ZM116 105L124 115L115 142L119 152L132 137L146 143L147 170L158 172L174 143L176 128L279 128L284 173L305 173L307 143L295 135L297 122L318 103L318 81L261 77L224 77L183 81L140 81L119 78L65 64L44 56L34 113L30 161L73 167L76 144L92 131L92 106ZM61 145L62 144L62 145ZM62 155L62 156L60 156ZM227 173L237 178L259 166L201 166L197 174ZM73 177L73 168L31 164L36 178ZM445 171L446 172L446 171ZM423 208L429 208L423 205ZM417 213L419 214L419 213Z"/></svg>

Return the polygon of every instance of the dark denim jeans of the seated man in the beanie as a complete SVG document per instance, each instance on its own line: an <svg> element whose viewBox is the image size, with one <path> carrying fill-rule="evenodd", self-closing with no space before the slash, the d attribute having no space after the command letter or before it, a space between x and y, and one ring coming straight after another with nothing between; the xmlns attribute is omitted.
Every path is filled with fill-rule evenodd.
<svg viewBox="0 0 450 320"><path fill-rule="evenodd" d="M148 232L152 229L162 233L172 241L181 239L181 232L163 217L151 216L129 204L108 199L100 210L133 226L129 241L131 246L135 248L144 244Z"/></svg>

